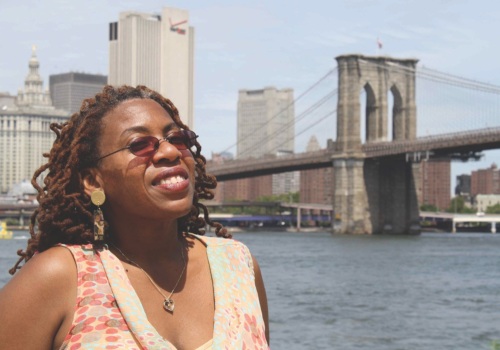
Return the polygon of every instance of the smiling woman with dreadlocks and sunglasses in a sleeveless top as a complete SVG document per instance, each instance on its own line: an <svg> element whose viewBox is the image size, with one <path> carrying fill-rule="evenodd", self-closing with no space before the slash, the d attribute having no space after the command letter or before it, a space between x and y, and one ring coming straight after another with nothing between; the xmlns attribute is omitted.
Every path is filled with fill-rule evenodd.
<svg viewBox="0 0 500 350"><path fill-rule="evenodd" d="M268 348L259 266L199 202L216 181L173 104L106 86L51 129L28 262L0 291L2 348Z"/></svg>

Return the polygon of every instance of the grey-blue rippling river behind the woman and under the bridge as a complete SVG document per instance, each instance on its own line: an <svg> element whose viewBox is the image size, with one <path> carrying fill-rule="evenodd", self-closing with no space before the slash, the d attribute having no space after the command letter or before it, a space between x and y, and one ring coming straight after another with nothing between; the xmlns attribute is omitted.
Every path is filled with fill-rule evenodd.
<svg viewBox="0 0 500 350"><path fill-rule="evenodd" d="M235 238L261 266L272 349L500 349L500 234ZM0 286L24 243L0 241Z"/></svg>

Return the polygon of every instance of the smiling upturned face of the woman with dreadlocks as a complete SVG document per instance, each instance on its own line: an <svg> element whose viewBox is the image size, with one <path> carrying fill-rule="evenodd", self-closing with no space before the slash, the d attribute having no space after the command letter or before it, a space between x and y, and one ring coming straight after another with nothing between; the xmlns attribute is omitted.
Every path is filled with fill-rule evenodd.
<svg viewBox="0 0 500 350"><path fill-rule="evenodd" d="M102 119L100 155L126 147L141 136L161 139L179 127L157 102L132 99ZM106 217L179 218L192 206L194 159L191 152L162 141L158 151L140 157L124 149L100 161L98 172L106 193Z"/></svg>

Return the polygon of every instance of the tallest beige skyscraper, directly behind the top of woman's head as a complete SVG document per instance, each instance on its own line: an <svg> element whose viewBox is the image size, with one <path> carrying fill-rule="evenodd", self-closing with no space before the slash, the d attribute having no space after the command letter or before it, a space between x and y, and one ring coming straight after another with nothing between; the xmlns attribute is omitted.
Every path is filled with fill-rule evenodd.
<svg viewBox="0 0 500 350"><path fill-rule="evenodd" d="M189 12L165 7L161 14L122 12L109 24L111 85L146 85L172 100L193 127L194 28Z"/></svg>

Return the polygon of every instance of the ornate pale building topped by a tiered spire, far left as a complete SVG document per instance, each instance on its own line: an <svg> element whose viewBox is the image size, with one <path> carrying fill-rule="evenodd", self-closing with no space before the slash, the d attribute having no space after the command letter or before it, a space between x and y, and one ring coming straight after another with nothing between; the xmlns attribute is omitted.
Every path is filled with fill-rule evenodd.
<svg viewBox="0 0 500 350"><path fill-rule="evenodd" d="M49 91L43 90L40 64L33 47L24 90L17 97L0 97L0 193L14 184L31 180L44 162L42 154L52 146L51 123L63 123L69 114L52 106Z"/></svg>

